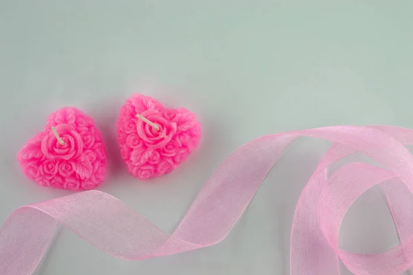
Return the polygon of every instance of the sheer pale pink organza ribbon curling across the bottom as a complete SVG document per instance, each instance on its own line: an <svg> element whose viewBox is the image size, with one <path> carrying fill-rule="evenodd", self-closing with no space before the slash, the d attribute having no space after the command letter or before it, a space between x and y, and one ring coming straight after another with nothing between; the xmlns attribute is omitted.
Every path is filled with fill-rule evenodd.
<svg viewBox="0 0 413 275"><path fill-rule="evenodd" d="M138 261L204 248L231 231L286 147L299 136L332 141L297 203L291 230L293 275L336 275L339 259L357 275L396 275L413 265L413 131L394 126L330 126L259 137L213 173L178 228L167 234L115 197L85 191L15 210L0 232L0 274L32 274L59 223L103 252ZM339 159L362 152L385 168L352 163L327 177ZM400 244L379 254L338 246L341 221L368 188L381 184Z"/></svg>

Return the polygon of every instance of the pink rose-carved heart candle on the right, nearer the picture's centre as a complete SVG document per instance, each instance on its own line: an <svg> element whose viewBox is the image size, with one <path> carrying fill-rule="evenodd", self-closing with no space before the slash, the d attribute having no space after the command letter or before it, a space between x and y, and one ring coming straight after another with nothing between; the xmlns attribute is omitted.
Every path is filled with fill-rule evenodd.
<svg viewBox="0 0 413 275"><path fill-rule="evenodd" d="M127 170L139 179L170 173L198 147L201 137L194 113L166 109L141 94L126 100L116 125Z"/></svg>

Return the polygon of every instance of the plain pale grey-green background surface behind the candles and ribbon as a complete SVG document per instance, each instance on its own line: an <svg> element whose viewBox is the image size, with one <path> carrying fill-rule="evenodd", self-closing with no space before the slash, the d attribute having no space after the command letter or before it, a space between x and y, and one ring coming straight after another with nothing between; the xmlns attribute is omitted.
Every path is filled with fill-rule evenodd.
<svg viewBox="0 0 413 275"><path fill-rule="evenodd" d="M99 190L169 232L224 157L253 137L331 124L413 127L412 12L410 0L0 0L0 222L70 194L26 180L15 160L65 105L93 115L105 135L110 173ZM134 91L188 107L204 131L200 150L151 184L127 174L116 148L116 115ZM36 274L288 274L294 206L325 149L293 145L218 245L133 263L66 230ZM342 247L394 245L379 194L356 204Z"/></svg>

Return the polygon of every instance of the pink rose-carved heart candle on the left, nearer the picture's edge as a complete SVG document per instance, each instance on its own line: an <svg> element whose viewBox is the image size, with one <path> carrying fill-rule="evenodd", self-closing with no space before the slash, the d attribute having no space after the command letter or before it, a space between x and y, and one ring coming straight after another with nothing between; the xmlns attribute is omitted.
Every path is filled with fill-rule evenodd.
<svg viewBox="0 0 413 275"><path fill-rule="evenodd" d="M89 190L105 179L107 159L94 120L74 107L64 107L47 119L44 132L17 153L28 179L41 186Z"/></svg>

